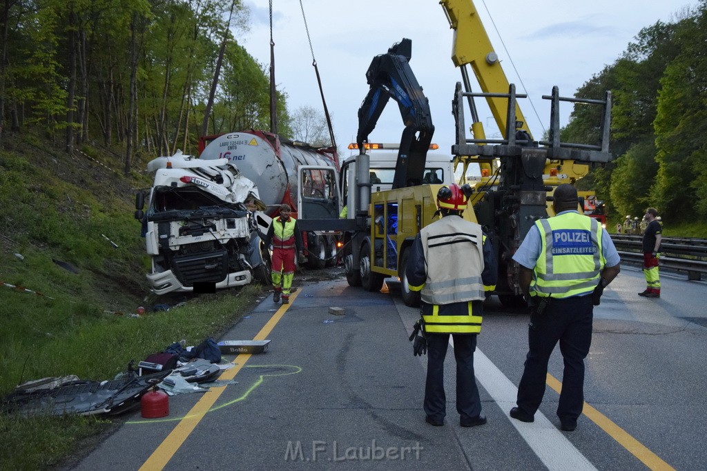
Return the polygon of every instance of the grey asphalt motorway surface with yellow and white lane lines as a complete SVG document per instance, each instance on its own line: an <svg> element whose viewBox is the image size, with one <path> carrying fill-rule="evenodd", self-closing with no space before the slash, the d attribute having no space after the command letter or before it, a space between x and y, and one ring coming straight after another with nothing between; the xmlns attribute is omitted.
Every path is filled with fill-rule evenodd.
<svg viewBox="0 0 707 471"><path fill-rule="evenodd" d="M426 357L408 335L419 316L395 282L367 293L345 280L303 281L289 306L262 302L223 340L271 340L264 354L225 357L237 383L170 398L170 415L139 412L79 470L705 469L707 282L662 276L662 297L637 293L624 268L595 309L585 414L573 432L555 415L562 359L532 424L508 410L527 352L527 316L487 302L475 364L489 423L464 429L446 364L444 427L424 422ZM329 314L329 307L344 316ZM558 350L558 349L556 349Z"/></svg>

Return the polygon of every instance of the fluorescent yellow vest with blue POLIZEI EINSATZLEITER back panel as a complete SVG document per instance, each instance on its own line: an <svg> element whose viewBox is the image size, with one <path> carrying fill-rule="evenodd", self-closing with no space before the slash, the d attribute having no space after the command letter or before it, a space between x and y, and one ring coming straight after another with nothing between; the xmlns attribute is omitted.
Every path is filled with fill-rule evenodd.
<svg viewBox="0 0 707 471"><path fill-rule="evenodd" d="M530 294L566 298L592 292L606 263L599 222L571 212L537 220L535 225L540 230L542 249L533 270Z"/></svg>

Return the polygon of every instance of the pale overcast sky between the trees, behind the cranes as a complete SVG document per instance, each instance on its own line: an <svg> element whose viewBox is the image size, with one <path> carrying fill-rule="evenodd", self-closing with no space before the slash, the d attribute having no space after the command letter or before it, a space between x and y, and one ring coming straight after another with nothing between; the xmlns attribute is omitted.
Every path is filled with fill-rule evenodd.
<svg viewBox="0 0 707 471"><path fill-rule="evenodd" d="M250 8L250 31L239 34L238 40L267 65L269 1L245 4ZM272 4L278 88L287 93L291 113L304 105L323 111L300 2L272 0ZM553 85L559 86L560 95L573 96L592 75L612 64L641 28L658 20L670 22L696 1L476 0L474 4L508 81L532 100L533 107L527 100L520 100L520 107L533 137L539 139L550 116L549 101L542 95L549 95ZM303 0L303 7L339 149L356 141L358 107L368 93L366 70L373 56L407 37L412 40L410 66L431 107L433 142L450 152L451 100L461 76L450 59L452 30L438 1ZM473 80L470 68L469 73ZM475 82L472 87L481 91ZM491 112L478 106L486 135L498 133ZM567 123L569 112L571 105L561 107L561 125ZM399 142L402 129L397 103L390 100L369 141ZM342 157L350 153L346 150Z"/></svg>

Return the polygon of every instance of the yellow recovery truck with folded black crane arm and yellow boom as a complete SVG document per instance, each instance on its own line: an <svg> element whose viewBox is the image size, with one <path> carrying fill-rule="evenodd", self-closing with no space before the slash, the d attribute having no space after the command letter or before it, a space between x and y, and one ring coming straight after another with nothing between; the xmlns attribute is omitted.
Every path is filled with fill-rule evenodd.
<svg viewBox="0 0 707 471"><path fill-rule="evenodd" d="M473 2L443 0L440 4L455 30L452 61L462 72L462 82L457 83L452 100L455 117L452 155L455 164L464 165L462 175L467 173L470 163L479 164L482 174L486 174L475 185L464 217L484 227L497 252L499 277L493 294L506 306L518 306L522 303L522 292L518 266L512 256L534 222L552 215L549 204L552 191L561 183L573 183L583 177L588 165L603 165L614 158L609 153L611 93L607 92L602 100L590 100L561 97L559 89L553 88L551 95L543 97L551 101L549 138L534 141L518 107L518 99L526 95L516 93L515 85L508 83ZM366 73L370 90L358 112L357 143L361 153L356 157L356 179L349 175L349 188L358 191L349 193L346 200L350 217L359 224L356 232L346 236L344 260L349 285L377 291L385 278L397 276L404 302L416 306L418 294L409 290L405 277L408 249L420 229L432 222L440 185L423 184L422 180L426 149L434 127L427 99L409 68L410 57L411 42L403 40L387 54L377 56ZM479 93L471 90L467 65L472 66L479 82ZM390 97L398 102L405 129L392 188L371 192L370 157L363 144ZM485 137L474 106L476 98L489 103L503 138ZM561 142L560 102L602 107L602 123L597 124L598 143ZM472 117L470 137L467 137L465 103ZM347 181L346 177L342 175L341 181Z"/></svg>

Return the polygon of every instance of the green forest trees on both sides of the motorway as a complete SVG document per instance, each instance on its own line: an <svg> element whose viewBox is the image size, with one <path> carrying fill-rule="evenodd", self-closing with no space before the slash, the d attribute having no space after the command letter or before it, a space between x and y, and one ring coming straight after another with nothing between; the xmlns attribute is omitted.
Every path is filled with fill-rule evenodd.
<svg viewBox="0 0 707 471"><path fill-rule="evenodd" d="M199 136L269 129L269 64L238 42L248 24L241 0L6 0L0 143L3 133L33 131L69 152L103 145L119 149L128 174L136 155L189 152ZM597 99L612 91L617 160L578 186L595 189L613 215L653 206L665 222L707 221L706 59L700 0L643 28L576 90ZM296 123L277 93L279 133L292 138ZM598 141L592 112L575 107L563 140Z"/></svg>

